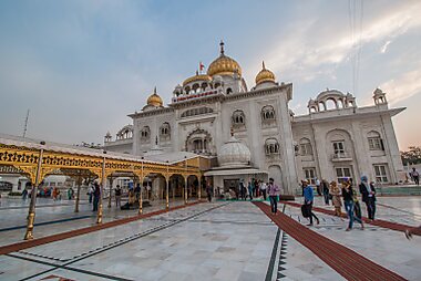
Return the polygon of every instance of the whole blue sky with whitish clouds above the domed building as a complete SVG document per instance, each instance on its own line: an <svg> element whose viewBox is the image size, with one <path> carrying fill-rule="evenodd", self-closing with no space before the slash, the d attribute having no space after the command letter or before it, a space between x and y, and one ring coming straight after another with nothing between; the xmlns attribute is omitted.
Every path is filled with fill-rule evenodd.
<svg viewBox="0 0 421 281"><path fill-rule="evenodd" d="M261 60L306 114L326 87L359 106L387 92L401 149L421 145L421 1L0 1L0 132L101 143L153 87L208 65L224 39L248 86ZM353 28L352 28L353 27ZM357 65L357 66L356 66Z"/></svg>

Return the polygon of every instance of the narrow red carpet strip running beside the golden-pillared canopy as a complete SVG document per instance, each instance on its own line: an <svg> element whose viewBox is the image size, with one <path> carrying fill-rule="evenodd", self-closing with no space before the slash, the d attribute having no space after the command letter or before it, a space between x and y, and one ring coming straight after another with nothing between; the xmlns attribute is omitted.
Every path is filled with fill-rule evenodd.
<svg viewBox="0 0 421 281"><path fill-rule="evenodd" d="M12 244L2 246L2 247L0 247L0 254L16 252L16 251L28 249L28 248L32 248L32 247L35 247L35 246L40 246L40 244L44 244L44 243L51 243L51 242L63 240L63 239L68 239L68 238L71 238L71 237L82 236L82 235L90 233L90 232L93 232L93 231L97 231L97 230L102 230L102 229L106 229L106 228L116 227L116 226L124 225L124 223L127 223L127 222L132 222L132 221L135 221L135 220L138 220L138 219L150 218L150 217L157 216L157 215L161 215L161 214L164 214L164 212L167 212L167 211L173 211L173 210L182 209L182 208L185 208L187 206L196 205L198 202L199 201L189 202L187 205L172 207L168 210L162 209L162 210L157 210L157 211L147 212L147 214L144 214L144 215L137 215L137 216L130 217L130 218L117 219L117 220L104 222L104 223L92 226L92 227L85 227L85 228L81 228L81 229L75 229L75 230L63 232L63 233L58 233L58 235L47 236L47 237L33 239L33 240L27 240L27 241L22 241L22 242L17 242L17 243L12 243Z"/></svg>

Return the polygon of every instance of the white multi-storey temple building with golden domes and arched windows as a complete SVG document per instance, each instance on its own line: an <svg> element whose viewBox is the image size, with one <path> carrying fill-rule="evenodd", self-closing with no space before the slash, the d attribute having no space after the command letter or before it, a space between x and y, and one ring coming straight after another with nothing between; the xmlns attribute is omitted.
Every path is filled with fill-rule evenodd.
<svg viewBox="0 0 421 281"><path fill-rule="evenodd" d="M216 175L217 156L233 131L250 150L248 168L274 177L287 194L295 194L304 178L400 180L403 167L391 116L403 108L389 110L384 93L374 91L374 105L358 107L351 94L328 90L310 100L309 114L302 116L294 116L291 98L292 84L277 83L265 65L248 90L239 64L225 55L222 43L207 74L177 85L168 106L155 90L141 112L129 115L133 125L123 127L116 140L107 134L104 147L143 156L157 138L164 152L215 157ZM233 170L227 178L245 179L243 174Z"/></svg>

